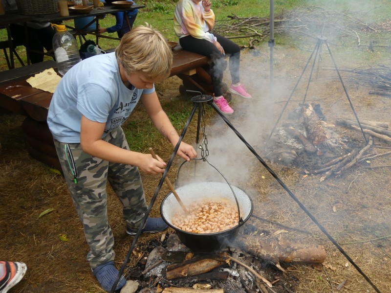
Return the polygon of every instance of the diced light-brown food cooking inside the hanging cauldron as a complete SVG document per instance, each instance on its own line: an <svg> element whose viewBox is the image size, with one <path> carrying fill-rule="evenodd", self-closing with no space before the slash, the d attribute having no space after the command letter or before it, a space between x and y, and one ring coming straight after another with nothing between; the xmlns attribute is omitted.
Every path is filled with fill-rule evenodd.
<svg viewBox="0 0 391 293"><path fill-rule="evenodd" d="M192 233L216 233L238 225L238 207L226 200L194 202L186 205L189 213L184 211L174 215L175 227Z"/></svg>

